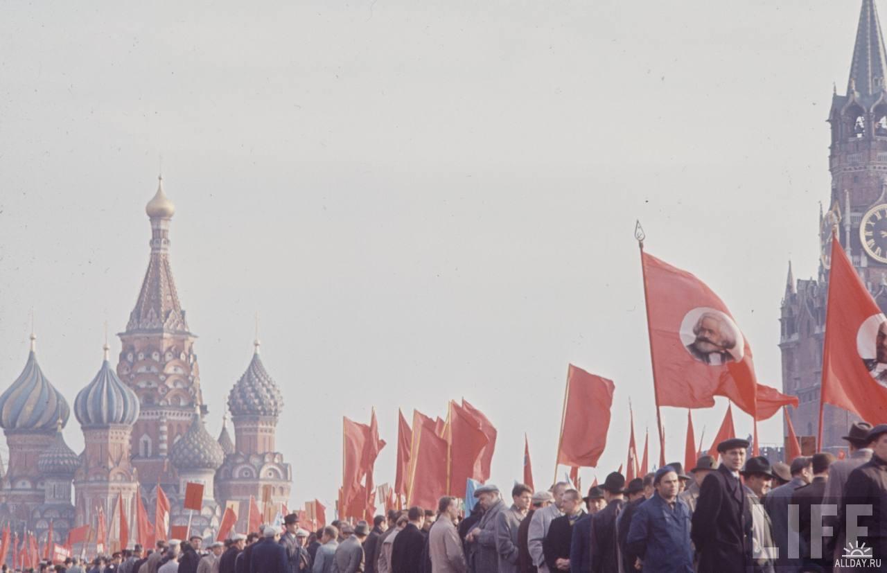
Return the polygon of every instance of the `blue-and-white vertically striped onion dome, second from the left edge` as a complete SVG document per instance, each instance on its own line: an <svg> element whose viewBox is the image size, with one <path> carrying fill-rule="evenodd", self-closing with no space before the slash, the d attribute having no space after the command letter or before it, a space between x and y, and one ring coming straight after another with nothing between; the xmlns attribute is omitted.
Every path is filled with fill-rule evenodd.
<svg viewBox="0 0 887 573"><path fill-rule="evenodd" d="M111 363L108 362L108 345L105 345L105 361L96 377L82 389L74 401L74 415L81 426L131 426L138 418L138 396L124 384Z"/></svg>

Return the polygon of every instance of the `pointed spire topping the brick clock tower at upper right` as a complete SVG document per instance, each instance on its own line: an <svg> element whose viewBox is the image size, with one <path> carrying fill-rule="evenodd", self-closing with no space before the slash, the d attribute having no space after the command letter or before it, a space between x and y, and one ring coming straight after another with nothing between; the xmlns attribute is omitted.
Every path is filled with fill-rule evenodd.
<svg viewBox="0 0 887 573"><path fill-rule="evenodd" d="M887 51L881 33L881 22L875 0L862 0L860 25L856 30L856 44L853 46L853 61L850 79L847 81L847 95L853 91L867 96L884 89L887 76Z"/></svg>

